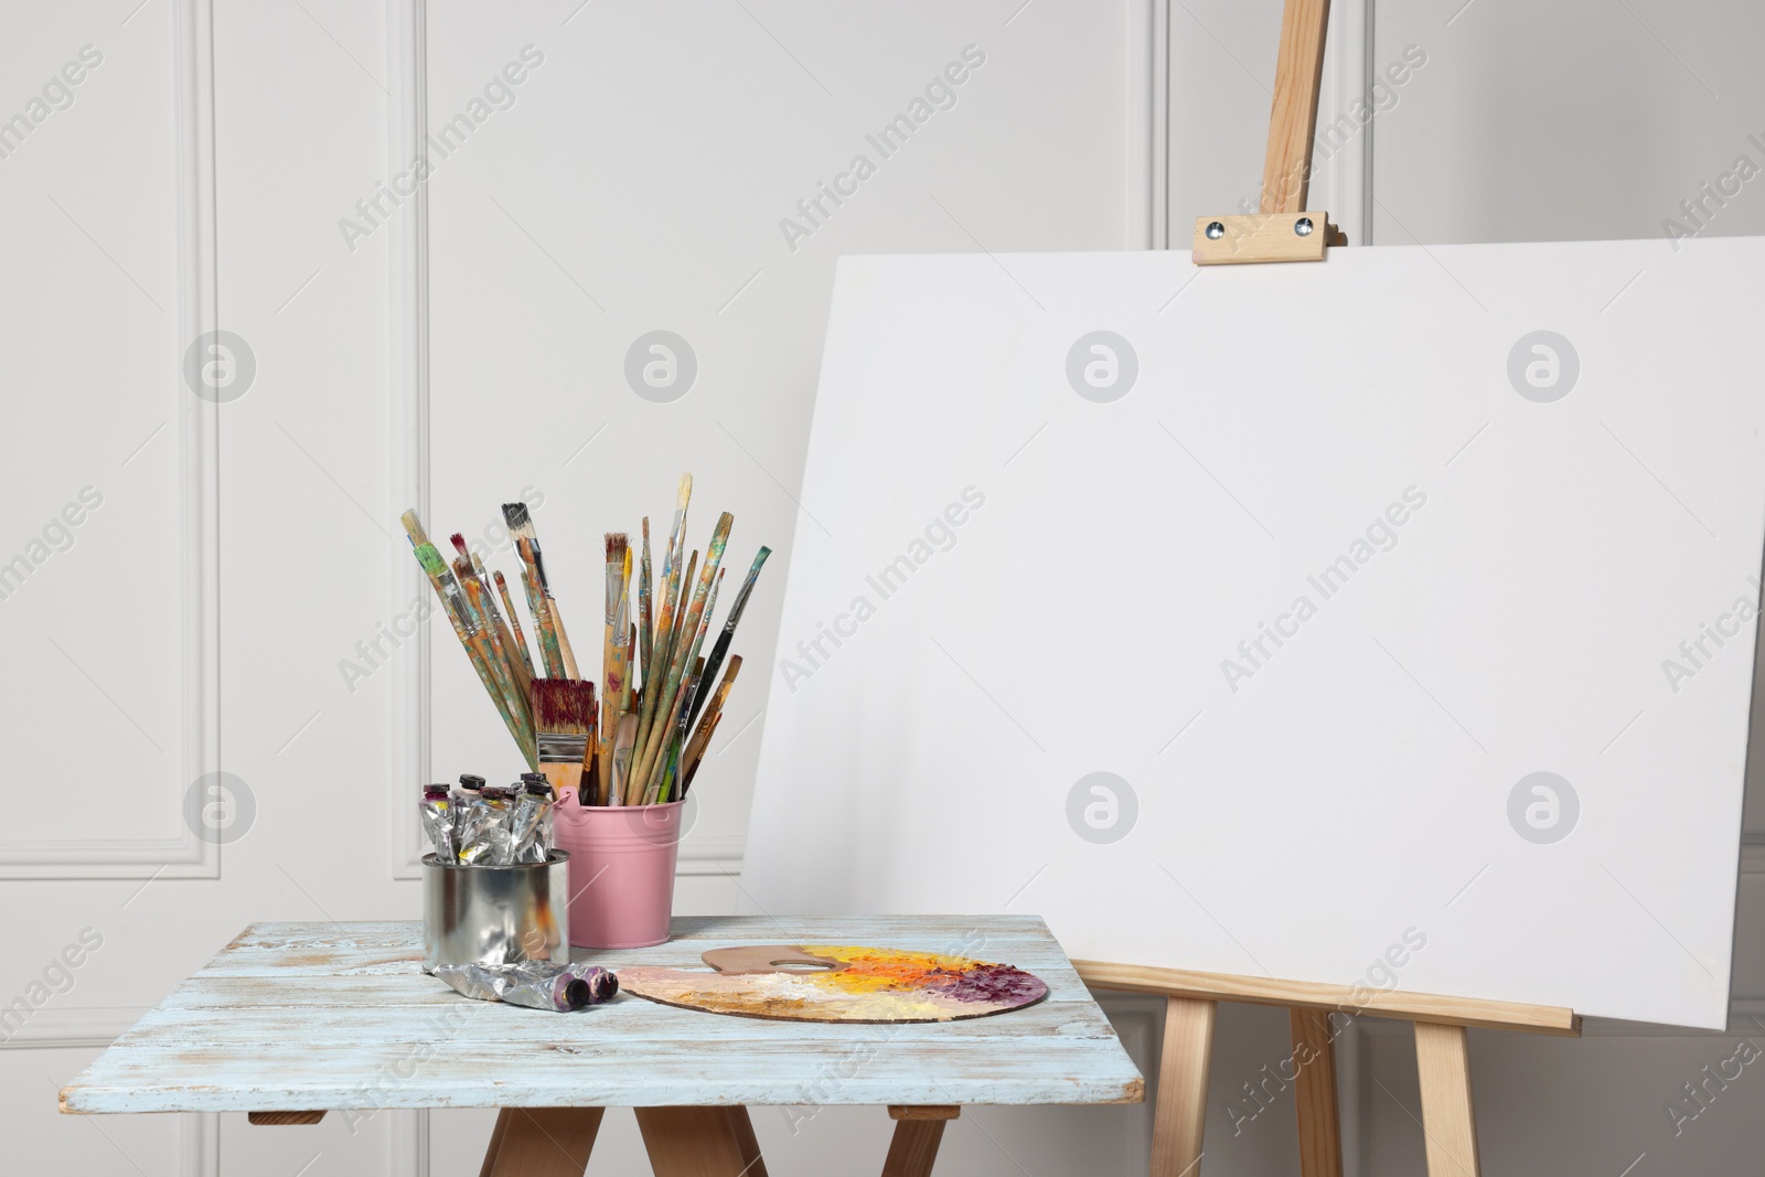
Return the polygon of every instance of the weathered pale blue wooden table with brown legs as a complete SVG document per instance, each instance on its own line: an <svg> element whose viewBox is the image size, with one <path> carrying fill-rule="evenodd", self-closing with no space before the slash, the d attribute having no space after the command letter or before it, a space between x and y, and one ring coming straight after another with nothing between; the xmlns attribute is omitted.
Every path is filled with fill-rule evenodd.
<svg viewBox="0 0 1765 1177"><path fill-rule="evenodd" d="M660 1177L764 1177L747 1105L881 1105L884 1177L932 1172L962 1105L1138 1103L1144 1083L1036 916L699 916L625 965L702 967L729 944L875 944L1018 965L1036 1006L920 1025L764 1022L621 993L577 1013L461 997L424 976L417 923L254 923L62 1089L62 1112L503 1108L494 1177L582 1173L602 1110L637 1108Z"/></svg>

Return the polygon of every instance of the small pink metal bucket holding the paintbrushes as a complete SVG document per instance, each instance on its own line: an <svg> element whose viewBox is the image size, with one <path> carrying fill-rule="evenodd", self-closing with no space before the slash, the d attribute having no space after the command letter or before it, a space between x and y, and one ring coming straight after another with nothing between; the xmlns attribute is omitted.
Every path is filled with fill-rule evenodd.
<svg viewBox="0 0 1765 1177"><path fill-rule="evenodd" d="M565 792L552 812L556 845L570 852L570 944L667 942L683 805L577 805Z"/></svg>

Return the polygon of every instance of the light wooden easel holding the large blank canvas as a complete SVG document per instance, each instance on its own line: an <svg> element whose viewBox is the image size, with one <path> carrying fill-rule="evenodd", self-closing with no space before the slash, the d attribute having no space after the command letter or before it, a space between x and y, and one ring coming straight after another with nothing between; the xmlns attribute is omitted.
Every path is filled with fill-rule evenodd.
<svg viewBox="0 0 1765 1177"><path fill-rule="evenodd" d="M1327 212L1304 210L1327 23L1329 0L1287 0L1258 212L1197 217L1195 265L1324 261L1326 245L1347 244L1329 222ZM1421 1078L1430 1177L1479 1173L1467 1027L1562 1036L1581 1032L1581 1018L1573 1009L1555 1006L1405 992L1368 995L1348 985L1093 960L1075 960L1073 965L1093 988L1156 993L1167 999L1158 1106L1153 1121L1153 1177L1198 1175L1214 1013L1221 1001L1288 1008L1292 1066L1297 1071L1292 1083L1299 1115L1299 1172L1304 1177L1341 1177L1334 1038L1348 1018L1400 1018L1416 1025L1416 1069Z"/></svg>

